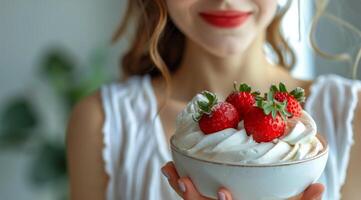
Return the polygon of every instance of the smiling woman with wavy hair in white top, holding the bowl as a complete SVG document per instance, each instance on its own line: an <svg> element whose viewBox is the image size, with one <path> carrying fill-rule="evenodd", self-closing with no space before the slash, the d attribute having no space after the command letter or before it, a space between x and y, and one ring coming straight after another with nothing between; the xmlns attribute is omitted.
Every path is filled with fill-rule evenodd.
<svg viewBox="0 0 361 200"><path fill-rule="evenodd" d="M325 197L340 198L350 157L342 195L361 198L356 189L361 180L356 159L361 153L361 132L352 127L352 120L361 115L360 84L338 76L303 81L290 75L295 57L279 32L288 6L277 9L277 0L128 3L125 20L114 36L116 41L132 19L136 22L134 40L122 62L126 80L105 85L79 102L70 119L72 199L177 199L176 194L207 199L189 178L178 176L171 162L165 164L171 160L167 141L177 113L197 92L209 90L224 98L233 81L246 82L261 92L278 82L305 88L309 97L305 109L331 147L321 178ZM277 56L274 63L263 52L266 43ZM353 132L356 142L350 153ZM314 184L294 199L321 199L323 191L323 185ZM226 188L220 188L218 195L232 199Z"/></svg>

